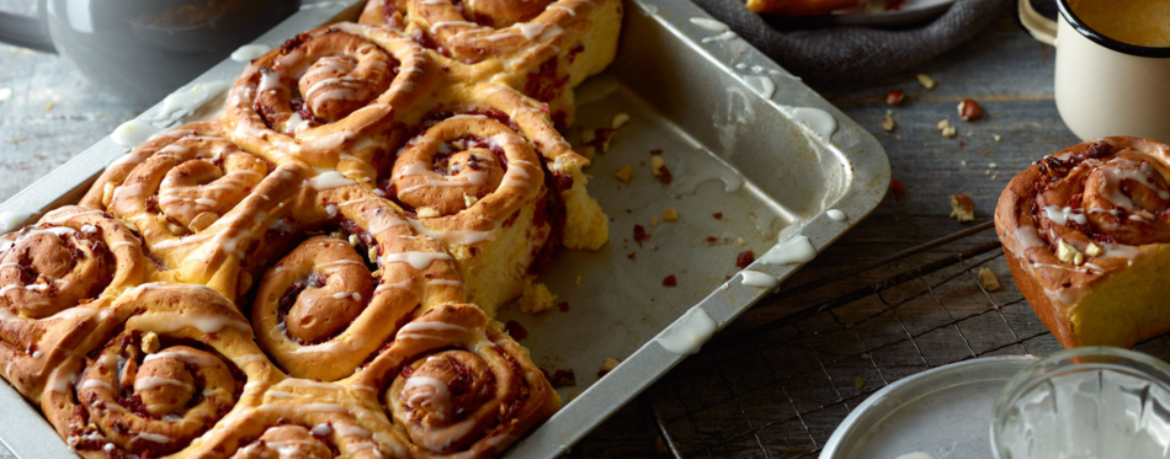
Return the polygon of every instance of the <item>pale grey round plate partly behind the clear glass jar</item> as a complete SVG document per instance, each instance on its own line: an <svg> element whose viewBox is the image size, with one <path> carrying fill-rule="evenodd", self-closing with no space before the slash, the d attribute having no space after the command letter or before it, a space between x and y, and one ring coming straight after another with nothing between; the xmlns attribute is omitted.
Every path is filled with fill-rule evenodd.
<svg viewBox="0 0 1170 459"><path fill-rule="evenodd" d="M999 391L1034 356L952 363L897 381L869 396L830 437L820 459L991 458L991 411Z"/></svg>

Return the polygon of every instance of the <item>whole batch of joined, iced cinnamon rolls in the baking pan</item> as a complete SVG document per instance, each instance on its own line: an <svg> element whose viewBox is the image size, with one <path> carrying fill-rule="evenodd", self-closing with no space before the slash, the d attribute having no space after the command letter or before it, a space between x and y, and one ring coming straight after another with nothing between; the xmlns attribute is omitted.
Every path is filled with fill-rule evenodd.
<svg viewBox="0 0 1170 459"><path fill-rule="evenodd" d="M412 30L450 13L425 4ZM612 61L621 2L464 6L498 29L426 28L466 59L310 30L225 118L0 237L0 376L87 458L494 457L552 416L490 317L556 245L607 240L555 119Z"/></svg>

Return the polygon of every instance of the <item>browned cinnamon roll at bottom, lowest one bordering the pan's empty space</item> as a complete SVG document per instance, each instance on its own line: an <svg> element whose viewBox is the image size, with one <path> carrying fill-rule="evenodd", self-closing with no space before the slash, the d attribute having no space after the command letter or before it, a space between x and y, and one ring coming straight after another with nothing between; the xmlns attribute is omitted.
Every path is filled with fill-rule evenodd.
<svg viewBox="0 0 1170 459"><path fill-rule="evenodd" d="M353 388L358 419L397 457L493 457L560 406L528 352L469 304L402 327Z"/></svg>

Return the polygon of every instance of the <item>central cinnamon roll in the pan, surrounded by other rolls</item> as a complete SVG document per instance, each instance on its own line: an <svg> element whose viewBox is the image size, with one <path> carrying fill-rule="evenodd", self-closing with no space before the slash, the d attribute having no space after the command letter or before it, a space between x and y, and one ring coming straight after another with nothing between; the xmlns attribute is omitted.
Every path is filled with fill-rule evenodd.
<svg viewBox="0 0 1170 459"><path fill-rule="evenodd" d="M336 381L353 374L417 308L463 299L455 260L415 235L393 204L337 172L307 181L319 220L268 269L253 306L261 345L289 374ZM298 212L298 214L312 214Z"/></svg>

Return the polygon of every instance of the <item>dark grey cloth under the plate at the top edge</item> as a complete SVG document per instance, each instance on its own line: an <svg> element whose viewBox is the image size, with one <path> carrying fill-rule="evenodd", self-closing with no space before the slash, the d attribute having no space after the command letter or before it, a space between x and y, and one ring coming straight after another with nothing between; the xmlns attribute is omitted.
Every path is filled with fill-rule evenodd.
<svg viewBox="0 0 1170 459"><path fill-rule="evenodd" d="M745 8L743 0L693 1L786 70L811 82L874 78L916 66L971 39L1012 4L956 0L929 23L906 29L821 27L780 32Z"/></svg>

